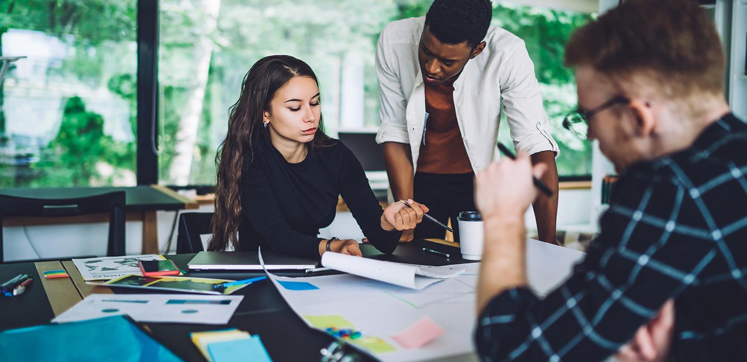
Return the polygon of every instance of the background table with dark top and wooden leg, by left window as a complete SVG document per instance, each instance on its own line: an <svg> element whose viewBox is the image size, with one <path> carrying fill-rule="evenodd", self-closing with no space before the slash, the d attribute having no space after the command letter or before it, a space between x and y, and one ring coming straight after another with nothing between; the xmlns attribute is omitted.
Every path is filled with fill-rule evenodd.
<svg viewBox="0 0 747 362"><path fill-rule="evenodd" d="M181 196L168 187L160 185L135 187L55 187L39 189L4 189L0 194L39 199L76 198L111 193L125 192L125 212L127 221L143 222L142 254L158 254L158 210L177 211L197 209L199 204L192 199ZM3 226L34 226L81 224L91 222L109 222L109 215L97 213L81 216L63 217L21 217L5 216ZM129 252L128 254L132 254ZM1 261L1 260L0 260Z"/></svg>

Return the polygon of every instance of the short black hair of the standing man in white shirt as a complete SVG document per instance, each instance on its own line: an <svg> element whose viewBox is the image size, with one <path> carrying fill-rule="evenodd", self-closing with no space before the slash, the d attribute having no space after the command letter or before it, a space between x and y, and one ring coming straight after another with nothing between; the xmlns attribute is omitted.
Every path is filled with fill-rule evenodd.
<svg viewBox="0 0 747 362"><path fill-rule="evenodd" d="M439 42L471 47L488 33L493 4L489 0L435 0L425 16L425 25Z"/></svg>

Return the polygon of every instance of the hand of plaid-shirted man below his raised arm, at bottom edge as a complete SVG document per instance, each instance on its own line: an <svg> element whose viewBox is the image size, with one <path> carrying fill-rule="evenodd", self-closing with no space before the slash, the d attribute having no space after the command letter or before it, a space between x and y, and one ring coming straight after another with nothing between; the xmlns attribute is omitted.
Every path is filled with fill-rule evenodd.
<svg viewBox="0 0 747 362"><path fill-rule="evenodd" d="M674 329L675 302L669 299L659 310L659 314L642 325L633 340L622 346L615 357L620 362L667 361Z"/></svg>

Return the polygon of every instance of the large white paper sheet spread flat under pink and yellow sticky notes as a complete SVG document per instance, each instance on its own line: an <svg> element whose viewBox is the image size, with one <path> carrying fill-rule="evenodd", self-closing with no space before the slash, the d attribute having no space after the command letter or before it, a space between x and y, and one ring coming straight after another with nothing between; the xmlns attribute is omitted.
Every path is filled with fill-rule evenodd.
<svg viewBox="0 0 747 362"><path fill-rule="evenodd" d="M547 295L567 278L573 264L583 255L561 246L527 240L530 287L539 296ZM455 356L470 359L474 358L472 340L480 263L452 267L465 271L421 290L350 274L303 278L280 277L269 272L267 275L307 325L320 330L360 330L363 336L348 342L379 360L427 361ZM443 333L423 346L412 348L417 341L403 339L403 334L421 324L424 318L430 318Z"/></svg>

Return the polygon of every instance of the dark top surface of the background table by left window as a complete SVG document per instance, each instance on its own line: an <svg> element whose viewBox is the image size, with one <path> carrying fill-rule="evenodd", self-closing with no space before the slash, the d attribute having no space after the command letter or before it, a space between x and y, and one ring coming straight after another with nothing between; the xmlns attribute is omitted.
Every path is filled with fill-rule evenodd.
<svg viewBox="0 0 747 362"><path fill-rule="evenodd" d="M124 191L126 195L125 210L183 210L185 201L168 195L151 186L134 187L53 187L39 189L3 189L0 194L37 199L72 199Z"/></svg>

